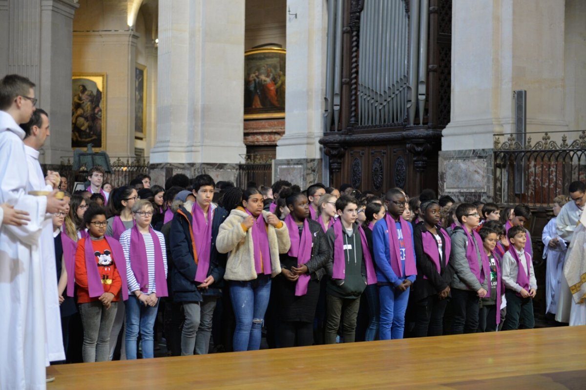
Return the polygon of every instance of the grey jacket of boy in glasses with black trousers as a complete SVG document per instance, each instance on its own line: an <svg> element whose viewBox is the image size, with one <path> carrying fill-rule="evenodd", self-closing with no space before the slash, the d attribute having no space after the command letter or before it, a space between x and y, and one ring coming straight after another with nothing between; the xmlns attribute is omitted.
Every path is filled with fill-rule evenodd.
<svg viewBox="0 0 586 390"><path fill-rule="evenodd" d="M466 249L468 248L468 236L462 228L454 229L452 234L452 251L449 255L449 262L454 266L455 273L452 278L452 288L459 290L471 290L478 291L481 287L488 291L488 283L490 282L490 275L486 275L484 282L480 283L480 280L470 271L470 265L468 259L466 259ZM482 269L482 258L480 251L482 248L478 248L476 240L474 242L474 248L476 249L476 257L478 258L479 269Z"/></svg>

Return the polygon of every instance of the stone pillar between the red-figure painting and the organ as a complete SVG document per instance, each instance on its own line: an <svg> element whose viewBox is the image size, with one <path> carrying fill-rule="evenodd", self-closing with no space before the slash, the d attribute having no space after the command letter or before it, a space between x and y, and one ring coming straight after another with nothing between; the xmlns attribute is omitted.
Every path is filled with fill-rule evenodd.
<svg viewBox="0 0 586 390"><path fill-rule="evenodd" d="M322 180L323 96L325 94L326 2L287 1L287 91L285 135L277 142L273 180L302 188Z"/></svg>

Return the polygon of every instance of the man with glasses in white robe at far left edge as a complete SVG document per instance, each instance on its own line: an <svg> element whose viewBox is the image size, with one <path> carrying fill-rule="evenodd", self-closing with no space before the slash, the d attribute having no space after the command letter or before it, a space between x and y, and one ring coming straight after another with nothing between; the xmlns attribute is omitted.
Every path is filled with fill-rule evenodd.
<svg viewBox="0 0 586 390"><path fill-rule="evenodd" d="M0 204L30 213L28 224L0 229L2 389L45 388L46 291L38 245L43 225L51 224L52 214L65 210L56 191L47 196L28 194L25 132L18 124L28 122L35 111L34 87L16 74L0 80Z"/></svg>

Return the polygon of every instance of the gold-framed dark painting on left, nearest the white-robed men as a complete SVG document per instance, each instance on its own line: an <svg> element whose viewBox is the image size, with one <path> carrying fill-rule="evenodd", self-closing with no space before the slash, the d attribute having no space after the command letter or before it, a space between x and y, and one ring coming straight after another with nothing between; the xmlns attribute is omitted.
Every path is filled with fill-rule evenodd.
<svg viewBox="0 0 586 390"><path fill-rule="evenodd" d="M105 148L106 74L73 74L71 96L71 148Z"/></svg>

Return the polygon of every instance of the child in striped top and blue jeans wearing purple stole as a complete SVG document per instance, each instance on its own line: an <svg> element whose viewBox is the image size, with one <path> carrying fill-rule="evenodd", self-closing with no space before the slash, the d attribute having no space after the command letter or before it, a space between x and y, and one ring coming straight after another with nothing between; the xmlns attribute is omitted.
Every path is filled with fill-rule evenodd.
<svg viewBox="0 0 586 390"><path fill-rule="evenodd" d="M141 334L142 358L154 357L154 326L159 298L167 293L167 256L165 237L151 228L153 208L148 200L132 206L137 224L120 236L128 259L126 264L129 298L126 310L126 358L137 358L137 338Z"/></svg>

